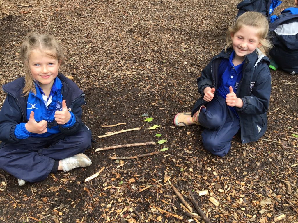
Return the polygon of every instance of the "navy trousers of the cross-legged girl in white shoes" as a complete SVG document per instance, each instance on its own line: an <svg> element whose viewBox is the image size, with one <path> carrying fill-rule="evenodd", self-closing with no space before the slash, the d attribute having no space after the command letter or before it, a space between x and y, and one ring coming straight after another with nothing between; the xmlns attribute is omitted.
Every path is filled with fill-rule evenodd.
<svg viewBox="0 0 298 223"><path fill-rule="evenodd" d="M55 161L83 153L91 147L86 131L66 136L59 133L49 137L29 137L17 143L0 145L0 169L29 182L46 179ZM57 163L57 162L56 162Z"/></svg>

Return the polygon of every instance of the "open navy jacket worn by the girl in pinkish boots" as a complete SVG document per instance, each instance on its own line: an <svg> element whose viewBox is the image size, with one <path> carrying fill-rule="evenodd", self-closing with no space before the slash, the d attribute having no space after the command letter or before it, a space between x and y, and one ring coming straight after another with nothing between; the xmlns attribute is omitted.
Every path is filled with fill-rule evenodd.
<svg viewBox="0 0 298 223"><path fill-rule="evenodd" d="M229 60L232 48L228 48L213 57L207 67L197 78L198 92L202 95L197 100L192 110L192 115L207 103L203 90L206 87L215 88L220 86L221 77L218 74L218 66L223 59ZM257 49L258 50L258 49ZM255 142L267 130L267 111L271 93L270 61L257 50L245 56L243 75L237 88L236 95L243 101L242 108L236 108L240 120L241 142ZM258 50L259 51L259 50Z"/></svg>

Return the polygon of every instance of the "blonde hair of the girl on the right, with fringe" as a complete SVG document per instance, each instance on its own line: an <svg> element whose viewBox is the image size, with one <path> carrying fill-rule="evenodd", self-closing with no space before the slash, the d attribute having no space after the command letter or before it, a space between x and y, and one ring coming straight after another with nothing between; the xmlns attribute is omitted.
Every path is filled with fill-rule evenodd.
<svg viewBox="0 0 298 223"><path fill-rule="evenodd" d="M227 35L226 35L226 46L225 51L227 48L232 47L232 37L231 34L235 34L238 32L242 26L252 26L258 30L258 37L260 43L262 44L259 50L265 54L266 50L271 47L270 41L267 39L268 31L269 31L269 24L268 19L265 15L260 12L248 11L244 12L238 18L236 18L234 25L230 26Z"/></svg>

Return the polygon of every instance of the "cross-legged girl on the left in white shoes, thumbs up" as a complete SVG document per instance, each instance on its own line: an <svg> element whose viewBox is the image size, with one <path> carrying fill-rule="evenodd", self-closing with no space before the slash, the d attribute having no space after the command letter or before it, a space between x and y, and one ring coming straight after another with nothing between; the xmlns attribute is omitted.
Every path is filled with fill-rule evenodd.
<svg viewBox="0 0 298 223"><path fill-rule="evenodd" d="M88 167L83 152L91 131L81 120L83 91L58 73L63 50L49 35L30 34L21 46L25 77L3 85L7 97L0 111L0 169L27 181L51 172Z"/></svg>

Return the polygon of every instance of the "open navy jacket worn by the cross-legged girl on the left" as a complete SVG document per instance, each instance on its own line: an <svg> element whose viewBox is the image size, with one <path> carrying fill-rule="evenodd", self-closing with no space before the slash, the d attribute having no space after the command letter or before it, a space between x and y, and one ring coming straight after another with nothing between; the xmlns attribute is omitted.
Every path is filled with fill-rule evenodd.
<svg viewBox="0 0 298 223"><path fill-rule="evenodd" d="M91 131L87 126L82 123L82 105L86 104L83 91L77 85L58 73L58 78L62 82L62 98L66 100L66 106L76 118L75 124L70 128L59 129L66 135L73 135L81 130L87 131L91 135ZM3 90L7 93L7 97L3 103L0 111L0 140L2 142L18 142L20 139L16 138L15 126L19 123L27 123L27 99L28 97L22 96L22 91L25 84L25 78L18 78L10 83L4 84ZM57 123L56 123L57 124ZM47 127L51 127L53 123L48 123ZM58 124L57 124L58 125Z"/></svg>

